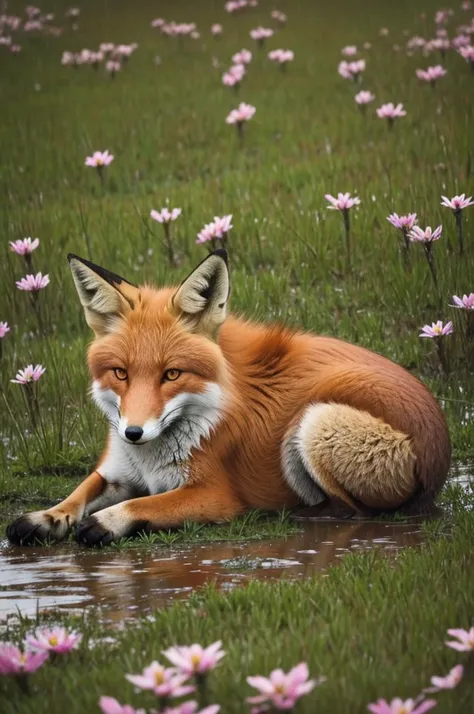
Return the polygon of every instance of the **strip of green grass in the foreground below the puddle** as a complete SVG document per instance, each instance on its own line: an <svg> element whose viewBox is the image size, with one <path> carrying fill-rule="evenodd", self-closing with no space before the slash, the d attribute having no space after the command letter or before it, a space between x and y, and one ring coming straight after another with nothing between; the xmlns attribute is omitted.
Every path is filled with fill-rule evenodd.
<svg viewBox="0 0 474 714"><path fill-rule="evenodd" d="M124 674L162 661L162 650L172 644L217 639L227 656L212 675L210 698L224 704L226 713L246 710L247 675L287 669L302 659L314 676L327 677L301 701L302 713L362 714L378 697L415 696L433 674L466 660L444 646L449 627L472 622L474 519L466 507L474 506L474 492L464 492L462 499L464 507L453 509L443 533L427 532L423 546L396 559L377 552L350 555L325 577L271 585L253 581L225 594L209 587L124 631L104 630L93 614L55 616L84 632L81 649L39 671L29 697L14 682L4 682L3 712L95 712L101 694L150 706L153 698L134 694ZM20 639L33 624L21 622L11 638ZM88 648L90 639L111 635L115 645ZM473 680L441 694L439 701L443 714L472 711Z"/></svg>

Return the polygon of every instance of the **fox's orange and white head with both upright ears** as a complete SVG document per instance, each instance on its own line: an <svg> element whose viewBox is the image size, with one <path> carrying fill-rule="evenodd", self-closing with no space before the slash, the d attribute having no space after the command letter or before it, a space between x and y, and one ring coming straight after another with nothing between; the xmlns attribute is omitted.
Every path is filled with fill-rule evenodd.
<svg viewBox="0 0 474 714"><path fill-rule="evenodd" d="M226 382L216 337L229 296L227 254L211 253L177 288L137 287L76 255L69 265L95 334L92 395L129 444L186 419L208 434Z"/></svg>

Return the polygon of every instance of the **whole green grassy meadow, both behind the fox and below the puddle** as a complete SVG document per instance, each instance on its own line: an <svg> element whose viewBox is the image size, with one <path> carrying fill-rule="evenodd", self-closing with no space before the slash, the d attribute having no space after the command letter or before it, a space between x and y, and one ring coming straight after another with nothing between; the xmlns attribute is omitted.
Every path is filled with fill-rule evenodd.
<svg viewBox="0 0 474 714"><path fill-rule="evenodd" d="M4 25L2 36L21 51L0 43L0 321L10 327L0 339L0 522L69 493L104 442L105 423L88 396L91 334L67 253L131 282L179 283L207 254L210 243L196 239L215 216L232 215L225 245L235 312L337 336L402 364L442 403L454 457L472 458L474 311L453 307L453 296L474 291L474 208L455 214L441 197L474 190L474 61L458 51L474 44L474 10L457 0L453 14L435 22L440 8L431 0L282 0L283 23L267 0L234 12L222 0L95 0L77 17L65 16L68 7L48 0L41 12L55 17L25 31L24 5L9 3L22 26ZM167 36L152 27L157 16L195 22L198 37ZM221 34L211 33L213 23ZM274 31L263 46L249 36L257 26ZM440 30L449 49L426 48L444 38ZM459 36L467 39L456 48ZM63 53L101 43L137 47L114 75L105 59L97 68L61 63ZM344 56L351 45L357 54ZM240 86L225 86L222 75L242 48L252 60ZM271 61L278 48L294 59ZM341 61L361 58L359 79L338 72ZM417 77L417 69L438 64L447 72L434 86ZM358 105L361 90L375 99ZM256 108L242 135L226 122L240 102ZM402 103L406 115L380 118L376 108L389 102ZM105 150L110 165L85 165ZM347 214L330 210L325 195L339 192L360 203ZM150 215L164 207L181 209L171 243ZM416 213L425 238L426 226L442 225L441 235L406 249L387 220L393 213ZM9 243L26 237L39 245L25 258ZM44 288L17 289L39 271L49 276ZM422 327L438 320L451 321L452 333L421 339ZM29 364L46 371L29 386L13 383ZM455 664L443 645L446 629L472 624L472 494L448 490L443 504L446 520L395 567L351 557L307 583L204 592L120 634L110 652L88 649L102 630L93 614L58 617L84 631L81 649L70 666L53 663L54 676L41 669L30 697L8 682L7 711L99 711L100 694L131 701L123 672L138 672L176 642L216 639L228 651L212 675L223 711L246 710L247 674L302 659L312 675L328 678L301 701L302 712L315 704L321 712L362 712L379 696L415 696ZM463 686L459 696L443 693L437 710L470 711L472 684Z"/></svg>

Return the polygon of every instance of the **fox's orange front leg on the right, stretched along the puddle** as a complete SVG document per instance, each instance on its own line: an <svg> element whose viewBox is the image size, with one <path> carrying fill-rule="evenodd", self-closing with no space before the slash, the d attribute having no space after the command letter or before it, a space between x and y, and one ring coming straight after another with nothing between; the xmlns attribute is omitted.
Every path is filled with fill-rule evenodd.
<svg viewBox="0 0 474 714"><path fill-rule="evenodd" d="M167 493L132 498L85 518L77 539L86 545L107 545L138 530L176 528L185 521L228 521L244 511L230 492L215 486L190 485Z"/></svg>

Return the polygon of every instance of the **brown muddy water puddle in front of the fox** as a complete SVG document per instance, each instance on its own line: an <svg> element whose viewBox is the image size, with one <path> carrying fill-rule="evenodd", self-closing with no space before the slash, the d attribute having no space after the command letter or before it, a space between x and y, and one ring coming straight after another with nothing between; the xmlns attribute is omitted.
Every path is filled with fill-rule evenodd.
<svg viewBox="0 0 474 714"><path fill-rule="evenodd" d="M469 488L472 471L452 482ZM188 596L207 583L231 590L250 580L301 579L324 571L347 553L378 549L387 555L423 540L419 522L298 521L287 538L219 542L132 550L0 548L0 620L21 612L100 607L102 618L120 622L143 616Z"/></svg>

